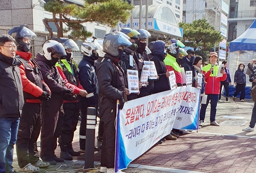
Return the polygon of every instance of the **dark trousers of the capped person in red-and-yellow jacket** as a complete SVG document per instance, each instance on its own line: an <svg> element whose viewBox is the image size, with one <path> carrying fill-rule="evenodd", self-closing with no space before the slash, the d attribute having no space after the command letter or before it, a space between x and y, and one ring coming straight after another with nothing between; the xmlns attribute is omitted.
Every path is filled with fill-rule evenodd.
<svg viewBox="0 0 256 173"><path fill-rule="evenodd" d="M202 104L201 106L200 120L203 120L204 122L206 108L210 101L210 122L215 121L215 116L217 112L216 107L217 107L218 100L219 100L219 94L207 94L206 104Z"/></svg>

